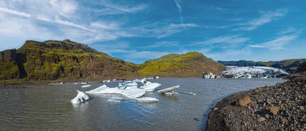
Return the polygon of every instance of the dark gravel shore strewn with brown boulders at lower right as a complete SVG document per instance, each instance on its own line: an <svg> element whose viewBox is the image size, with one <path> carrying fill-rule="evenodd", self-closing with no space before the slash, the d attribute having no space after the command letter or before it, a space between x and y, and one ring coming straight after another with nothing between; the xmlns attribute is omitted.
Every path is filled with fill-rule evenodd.
<svg viewBox="0 0 306 131"><path fill-rule="evenodd" d="M306 130L306 78L228 96L210 112L207 130Z"/></svg>

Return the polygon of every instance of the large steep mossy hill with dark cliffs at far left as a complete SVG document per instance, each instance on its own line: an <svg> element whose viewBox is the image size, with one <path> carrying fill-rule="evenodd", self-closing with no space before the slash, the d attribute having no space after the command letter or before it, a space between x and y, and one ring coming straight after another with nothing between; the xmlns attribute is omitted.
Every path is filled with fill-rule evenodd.
<svg viewBox="0 0 306 131"><path fill-rule="evenodd" d="M98 79L136 75L139 74L134 63L70 40L29 40L17 50L0 51L0 80Z"/></svg>

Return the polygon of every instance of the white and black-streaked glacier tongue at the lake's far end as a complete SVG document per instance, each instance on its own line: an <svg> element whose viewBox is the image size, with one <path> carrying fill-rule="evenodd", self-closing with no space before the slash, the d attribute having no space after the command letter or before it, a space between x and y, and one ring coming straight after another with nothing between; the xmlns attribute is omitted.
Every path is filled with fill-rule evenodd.
<svg viewBox="0 0 306 131"><path fill-rule="evenodd" d="M233 78L275 78L289 75L282 69L262 66L226 66L226 70L222 72L226 77Z"/></svg>

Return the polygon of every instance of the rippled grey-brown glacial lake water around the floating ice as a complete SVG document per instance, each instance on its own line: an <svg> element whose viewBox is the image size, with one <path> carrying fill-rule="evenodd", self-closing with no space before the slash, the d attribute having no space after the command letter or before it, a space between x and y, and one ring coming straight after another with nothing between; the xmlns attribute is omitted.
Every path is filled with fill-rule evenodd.
<svg viewBox="0 0 306 131"><path fill-rule="evenodd" d="M0 130L205 130L209 111L222 98L285 80L161 78L151 81L162 84L160 89L180 85L178 91L196 95L149 92L144 96L160 101L109 103L107 99L115 94L89 94L90 100L73 105L70 100L77 95L75 90L85 92L103 84L93 84L90 88L67 83L0 89ZM118 83L106 85L115 87Z"/></svg>

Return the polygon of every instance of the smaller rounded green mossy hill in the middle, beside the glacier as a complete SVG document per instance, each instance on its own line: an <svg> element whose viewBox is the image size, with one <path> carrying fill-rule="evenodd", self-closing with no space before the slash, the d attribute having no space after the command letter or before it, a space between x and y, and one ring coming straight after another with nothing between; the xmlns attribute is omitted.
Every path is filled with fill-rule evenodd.
<svg viewBox="0 0 306 131"><path fill-rule="evenodd" d="M203 71L221 74L223 69L225 69L223 64L201 53L189 52L182 55L169 54L159 59L148 60L139 65L138 73L147 76L198 77Z"/></svg>

